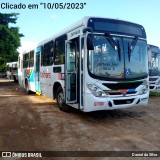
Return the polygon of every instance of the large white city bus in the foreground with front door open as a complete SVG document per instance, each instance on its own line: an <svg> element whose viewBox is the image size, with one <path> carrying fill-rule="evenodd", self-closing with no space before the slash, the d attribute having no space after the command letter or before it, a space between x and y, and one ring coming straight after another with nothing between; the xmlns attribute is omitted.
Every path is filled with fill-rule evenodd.
<svg viewBox="0 0 160 160"><path fill-rule="evenodd" d="M62 111L147 105L148 52L142 25L84 17L21 55L26 92L57 100Z"/></svg>

